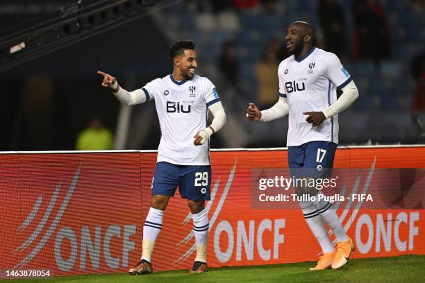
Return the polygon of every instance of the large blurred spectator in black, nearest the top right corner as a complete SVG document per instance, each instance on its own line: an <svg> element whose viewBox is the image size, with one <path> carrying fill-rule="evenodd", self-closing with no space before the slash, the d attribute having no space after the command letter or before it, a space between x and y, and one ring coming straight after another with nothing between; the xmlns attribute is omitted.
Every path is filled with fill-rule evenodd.
<svg viewBox="0 0 425 283"><path fill-rule="evenodd" d="M390 29L382 6L374 0L354 0L355 59L373 59L377 67L390 58Z"/></svg>

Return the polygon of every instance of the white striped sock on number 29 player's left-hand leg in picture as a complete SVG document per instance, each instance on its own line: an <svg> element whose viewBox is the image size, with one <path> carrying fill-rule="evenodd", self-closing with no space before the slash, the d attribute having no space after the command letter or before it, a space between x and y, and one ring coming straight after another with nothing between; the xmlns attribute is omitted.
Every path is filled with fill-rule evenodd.
<svg viewBox="0 0 425 283"><path fill-rule="evenodd" d="M143 226L142 258L151 262L156 238L163 228L163 210L151 207Z"/></svg>

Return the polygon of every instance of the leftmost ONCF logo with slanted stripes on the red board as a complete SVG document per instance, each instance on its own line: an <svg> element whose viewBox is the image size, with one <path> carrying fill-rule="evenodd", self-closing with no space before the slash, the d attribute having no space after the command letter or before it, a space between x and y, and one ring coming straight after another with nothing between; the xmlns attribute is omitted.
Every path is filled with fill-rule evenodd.
<svg viewBox="0 0 425 283"><path fill-rule="evenodd" d="M135 249L135 243L130 241L130 237L136 233L136 225L97 225L94 228L89 226L83 226L81 228L60 226L60 221L67 210L80 177L81 166L78 166L69 188L63 188L63 182L58 183L47 208L44 210L41 221L22 245L14 250L15 255L21 256L22 259L13 269L26 266L40 252L46 252L43 251L43 248L51 241L54 241L53 257L60 271L70 271L74 268L84 270L89 265L92 268L100 268L101 264L103 266L106 264L109 268L128 266L128 255ZM60 193L65 194L62 203L58 203ZM33 223L35 216L42 213L40 211L42 200L42 194L40 194L33 205L33 209L22 225L19 226L19 232L28 229L28 226ZM53 211L57 211L56 215L52 214ZM31 227L33 226L31 225ZM53 237L53 235L55 236ZM118 245L121 246L119 248L120 257L114 256L117 254L116 252L111 252L110 243L113 241L115 243L118 242ZM28 250L29 246L35 246L35 248ZM70 252L64 252L64 249L69 250L69 248ZM76 265L77 259L79 259L79 265ZM47 267L51 266L51 264L53 262L47 263Z"/></svg>

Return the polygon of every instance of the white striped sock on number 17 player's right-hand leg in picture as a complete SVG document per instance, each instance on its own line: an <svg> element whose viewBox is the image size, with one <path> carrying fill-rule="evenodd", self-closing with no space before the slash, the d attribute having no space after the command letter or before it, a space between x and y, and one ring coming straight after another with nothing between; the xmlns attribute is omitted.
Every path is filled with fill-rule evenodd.
<svg viewBox="0 0 425 283"><path fill-rule="evenodd" d="M319 191L317 197L320 194L324 195L322 191ZM326 221L328 226L332 229L337 241L347 241L347 234L345 233L345 230L342 227L340 218L338 218L335 209L332 209L332 204L322 198L322 200L315 203L315 207L317 209L317 212L319 212L320 216L324 218L324 221Z"/></svg>

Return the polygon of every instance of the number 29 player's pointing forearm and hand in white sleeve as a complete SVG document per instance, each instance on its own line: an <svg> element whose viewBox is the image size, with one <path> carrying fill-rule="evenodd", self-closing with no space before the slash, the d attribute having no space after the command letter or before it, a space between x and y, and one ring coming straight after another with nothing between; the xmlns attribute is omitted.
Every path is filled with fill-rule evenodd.
<svg viewBox="0 0 425 283"><path fill-rule="evenodd" d="M97 71L97 74L103 76L102 87L109 87L112 89L113 94L124 105L135 105L139 103L144 103L147 101L147 97L142 91L142 89L136 89L133 92L128 92L126 89L123 89L119 86L115 77L106 74L103 71Z"/></svg>

